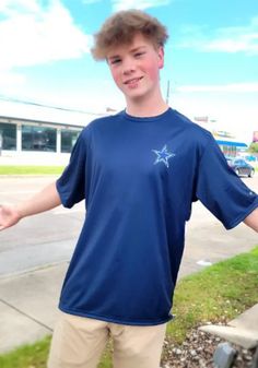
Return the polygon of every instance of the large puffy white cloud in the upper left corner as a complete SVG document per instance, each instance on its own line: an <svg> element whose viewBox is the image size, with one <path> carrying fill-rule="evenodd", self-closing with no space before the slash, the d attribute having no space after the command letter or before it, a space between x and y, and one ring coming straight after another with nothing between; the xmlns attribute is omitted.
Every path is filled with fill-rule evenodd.
<svg viewBox="0 0 258 368"><path fill-rule="evenodd" d="M89 52L91 36L73 22L59 0L43 8L39 0L2 0L0 70L80 58Z"/></svg>

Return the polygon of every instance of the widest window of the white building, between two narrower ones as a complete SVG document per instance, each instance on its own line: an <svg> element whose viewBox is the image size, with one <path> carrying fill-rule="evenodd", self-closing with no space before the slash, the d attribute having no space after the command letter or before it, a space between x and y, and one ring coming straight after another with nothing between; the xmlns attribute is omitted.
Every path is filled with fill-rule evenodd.
<svg viewBox="0 0 258 368"><path fill-rule="evenodd" d="M22 126L22 150L56 152L57 130L55 128Z"/></svg>

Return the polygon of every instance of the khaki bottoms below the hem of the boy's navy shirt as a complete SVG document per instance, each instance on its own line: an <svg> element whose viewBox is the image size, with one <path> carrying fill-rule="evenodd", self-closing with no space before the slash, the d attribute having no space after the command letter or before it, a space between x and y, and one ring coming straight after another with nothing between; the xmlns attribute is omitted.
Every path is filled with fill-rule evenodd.
<svg viewBox="0 0 258 368"><path fill-rule="evenodd" d="M48 368L96 368L109 336L114 368L159 368L166 323L124 325L60 312Z"/></svg>

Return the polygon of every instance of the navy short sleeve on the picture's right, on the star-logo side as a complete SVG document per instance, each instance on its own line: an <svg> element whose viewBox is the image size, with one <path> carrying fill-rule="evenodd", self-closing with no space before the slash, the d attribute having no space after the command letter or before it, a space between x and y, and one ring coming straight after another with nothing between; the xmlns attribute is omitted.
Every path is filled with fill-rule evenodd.
<svg viewBox="0 0 258 368"><path fill-rule="evenodd" d="M212 135L200 159L196 191L226 229L238 225L258 206L258 195L227 165Z"/></svg>

